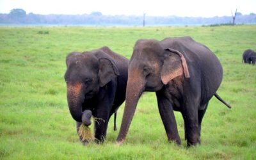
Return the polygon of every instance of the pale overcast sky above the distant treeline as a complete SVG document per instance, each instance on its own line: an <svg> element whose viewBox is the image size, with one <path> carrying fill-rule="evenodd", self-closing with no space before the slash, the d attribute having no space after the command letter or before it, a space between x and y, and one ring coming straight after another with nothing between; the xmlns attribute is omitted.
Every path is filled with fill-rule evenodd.
<svg viewBox="0 0 256 160"><path fill-rule="evenodd" d="M177 15L181 17L214 17L231 15L231 11L256 13L256 0L0 0L0 13L22 8L27 13L104 15Z"/></svg>

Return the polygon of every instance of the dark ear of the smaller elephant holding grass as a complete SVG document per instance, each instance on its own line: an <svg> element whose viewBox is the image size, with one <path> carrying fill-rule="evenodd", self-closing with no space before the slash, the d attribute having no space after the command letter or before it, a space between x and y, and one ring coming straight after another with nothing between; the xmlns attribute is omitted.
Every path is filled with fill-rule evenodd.
<svg viewBox="0 0 256 160"><path fill-rule="evenodd" d="M118 68L113 61L109 60L109 58L99 58L100 87L105 86L118 75Z"/></svg>

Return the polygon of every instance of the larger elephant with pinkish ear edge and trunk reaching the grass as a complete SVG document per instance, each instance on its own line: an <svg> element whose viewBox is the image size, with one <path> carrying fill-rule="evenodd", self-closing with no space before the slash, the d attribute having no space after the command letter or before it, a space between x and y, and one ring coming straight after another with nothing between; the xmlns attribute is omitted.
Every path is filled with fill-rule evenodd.
<svg viewBox="0 0 256 160"><path fill-rule="evenodd" d="M215 54L189 36L138 40L129 61L124 115L116 143L124 142L141 94L156 92L168 141L181 143L175 110L182 113L188 147L200 144L202 119L213 95L231 108L216 93L222 77Z"/></svg>

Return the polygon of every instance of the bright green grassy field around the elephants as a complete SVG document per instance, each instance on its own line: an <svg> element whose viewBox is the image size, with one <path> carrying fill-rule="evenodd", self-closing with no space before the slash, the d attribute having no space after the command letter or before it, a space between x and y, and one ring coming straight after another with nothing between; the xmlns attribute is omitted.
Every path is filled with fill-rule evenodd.
<svg viewBox="0 0 256 160"><path fill-rule="evenodd" d="M140 38L191 36L223 65L219 95L202 122L201 145L186 148L184 122L176 112L182 145L168 143L154 93L141 97L124 145L109 122L106 143L81 145L66 99L65 58L104 45L130 58ZM0 159L256 159L256 66L241 63L256 50L256 26L0 28Z"/></svg>

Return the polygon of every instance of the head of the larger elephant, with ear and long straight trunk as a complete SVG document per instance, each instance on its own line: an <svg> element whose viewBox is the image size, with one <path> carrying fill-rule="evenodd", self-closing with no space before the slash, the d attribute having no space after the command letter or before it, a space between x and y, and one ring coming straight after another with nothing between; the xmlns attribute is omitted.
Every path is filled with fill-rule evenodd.
<svg viewBox="0 0 256 160"><path fill-rule="evenodd" d="M186 60L179 51L164 49L157 40L136 42L129 63L124 116L117 143L125 140L141 93L159 91L179 76L189 77Z"/></svg>

